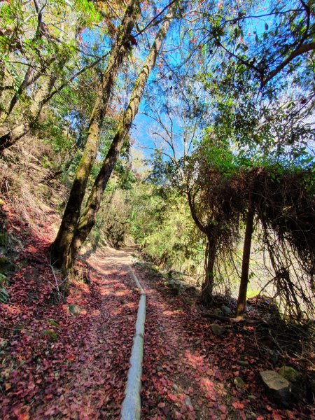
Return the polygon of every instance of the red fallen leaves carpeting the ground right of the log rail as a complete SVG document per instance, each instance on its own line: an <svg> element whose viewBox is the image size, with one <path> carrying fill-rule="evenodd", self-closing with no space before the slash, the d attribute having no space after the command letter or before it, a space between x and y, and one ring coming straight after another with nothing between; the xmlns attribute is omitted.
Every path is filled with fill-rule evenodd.
<svg viewBox="0 0 315 420"><path fill-rule="evenodd" d="M246 420L252 412L261 420L310 418L308 408L302 405L296 414L295 410L272 408L258 376L259 370L269 366L269 360L258 353L252 335L235 333L238 328L232 325L225 337L215 337L207 321L181 297L170 296L162 282L146 276L142 269L137 269L137 276L149 297L144 419L198 419L202 413L202 418L230 419L236 415ZM183 309L180 312L179 307ZM250 365L240 366L238 360L248 360ZM235 375L244 379L243 389L236 388ZM248 395L255 398L248 399ZM165 407L169 408L167 417Z"/></svg>

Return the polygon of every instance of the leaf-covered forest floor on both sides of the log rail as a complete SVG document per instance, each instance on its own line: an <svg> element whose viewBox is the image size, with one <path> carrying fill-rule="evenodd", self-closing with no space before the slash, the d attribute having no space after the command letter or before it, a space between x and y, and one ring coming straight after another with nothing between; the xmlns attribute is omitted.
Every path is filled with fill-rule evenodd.
<svg viewBox="0 0 315 420"><path fill-rule="evenodd" d="M20 244L0 308L1 419L119 419L139 301L130 265L147 296L142 419L311 418L304 402L283 409L268 400L258 372L272 365L258 352L253 326L214 335L193 298L172 295L133 263L134 249L86 252L59 302L48 259L57 216L47 211L39 223L34 214L30 225L4 206L1 218Z"/></svg>

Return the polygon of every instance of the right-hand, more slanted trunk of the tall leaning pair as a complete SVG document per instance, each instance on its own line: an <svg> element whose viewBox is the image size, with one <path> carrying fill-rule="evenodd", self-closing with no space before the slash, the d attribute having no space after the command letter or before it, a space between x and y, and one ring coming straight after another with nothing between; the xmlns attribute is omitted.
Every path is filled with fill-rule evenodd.
<svg viewBox="0 0 315 420"><path fill-rule="evenodd" d="M141 102L141 97L146 87L146 82L148 81L148 76L151 73L151 70L155 66L156 59L158 57L158 52L162 46L162 42L167 34L169 25L171 24L172 19L174 18L174 13L176 6L172 6L169 12L167 13L164 22L162 23L158 34L155 38L155 41L150 49L146 62L142 67L139 76L134 84L134 89L132 91L130 102L127 106L127 109L124 113L123 120L118 126L115 137L113 138L111 147L106 155L106 158L103 162L102 168L97 175L97 179L94 182L90 197L87 200L85 210L83 211L82 216L78 222L78 227L76 232L73 235L73 240L69 248L69 254L67 255L66 260L64 261L64 269L68 270L73 265L73 262L76 258L80 247L83 245L83 242L89 235L92 227L94 226L97 212L102 200L102 195L106 188L107 182L113 172L113 168L116 165L118 157L120 155L120 150L123 146L123 143L127 137L127 134L132 125L134 117L137 115L139 104Z"/></svg>

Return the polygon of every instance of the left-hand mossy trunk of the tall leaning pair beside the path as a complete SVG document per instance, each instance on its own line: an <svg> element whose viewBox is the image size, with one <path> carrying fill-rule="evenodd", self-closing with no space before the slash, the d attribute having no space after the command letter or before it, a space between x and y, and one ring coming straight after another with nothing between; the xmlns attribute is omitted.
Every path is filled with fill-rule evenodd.
<svg viewBox="0 0 315 420"><path fill-rule="evenodd" d="M69 246L71 245L73 233L76 230L78 218L80 217L80 209L85 195L87 181L97 157L99 132L102 127L104 114L109 105L109 99L118 70L130 50L130 35L139 15L139 0L130 0L123 21L118 29L116 42L111 49L111 55L103 75L102 85L97 93L94 108L90 116L87 141L82 158L76 169L75 179L73 180L69 200L64 210L62 223L59 227L57 237L50 248L52 262L55 263L56 267L62 267L69 253Z"/></svg>

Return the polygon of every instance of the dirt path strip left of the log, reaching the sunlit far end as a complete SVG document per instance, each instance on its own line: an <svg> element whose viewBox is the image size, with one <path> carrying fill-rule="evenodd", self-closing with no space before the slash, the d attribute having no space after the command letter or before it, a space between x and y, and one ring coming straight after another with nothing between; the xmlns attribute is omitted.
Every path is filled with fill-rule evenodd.
<svg viewBox="0 0 315 420"><path fill-rule="evenodd" d="M72 401L74 419L118 419L137 316L137 290L127 267L130 253L108 248L90 255L87 262L99 276L101 299L99 307L91 308L90 323L83 327L83 346L72 366L75 374L58 406L64 405L66 418Z"/></svg>

